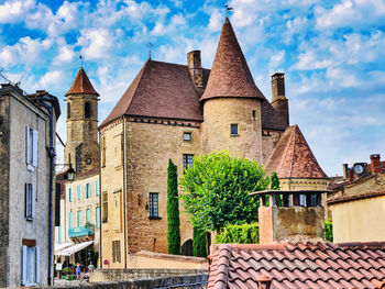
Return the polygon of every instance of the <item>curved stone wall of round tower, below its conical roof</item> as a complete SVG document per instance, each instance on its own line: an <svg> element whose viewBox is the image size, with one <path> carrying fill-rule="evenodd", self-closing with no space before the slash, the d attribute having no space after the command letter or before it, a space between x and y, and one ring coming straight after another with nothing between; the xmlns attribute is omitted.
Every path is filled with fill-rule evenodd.
<svg viewBox="0 0 385 289"><path fill-rule="evenodd" d="M253 116L253 111L255 116ZM217 98L205 102L202 153L228 149L232 155L262 164L261 102L255 99ZM230 125L238 124L238 134Z"/></svg>

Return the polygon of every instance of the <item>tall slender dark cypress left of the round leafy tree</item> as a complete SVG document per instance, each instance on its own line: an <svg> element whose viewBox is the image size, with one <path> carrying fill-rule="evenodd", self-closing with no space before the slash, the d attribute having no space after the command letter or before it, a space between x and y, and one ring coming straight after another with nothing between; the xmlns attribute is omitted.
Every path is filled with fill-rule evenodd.
<svg viewBox="0 0 385 289"><path fill-rule="evenodd" d="M178 202L178 173L173 162L168 160L167 169L167 241L168 254L180 255L180 229L179 229L179 202Z"/></svg>

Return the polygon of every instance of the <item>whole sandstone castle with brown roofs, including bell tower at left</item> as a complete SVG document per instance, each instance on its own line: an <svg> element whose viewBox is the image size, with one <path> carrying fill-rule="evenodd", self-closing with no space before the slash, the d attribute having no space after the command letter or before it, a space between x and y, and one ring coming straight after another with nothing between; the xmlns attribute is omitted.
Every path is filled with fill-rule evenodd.
<svg viewBox="0 0 385 289"><path fill-rule="evenodd" d="M124 268L139 251L167 252L169 158L180 176L195 155L228 149L276 171L283 189L326 189L299 127L289 126L284 74L272 76L272 90L270 102L226 19L211 69L201 67L199 51L187 54L187 66L147 59L99 125L98 147L98 93L79 70L66 95L65 157L79 171L100 159L101 263ZM180 234L188 255L193 226L184 212Z"/></svg>

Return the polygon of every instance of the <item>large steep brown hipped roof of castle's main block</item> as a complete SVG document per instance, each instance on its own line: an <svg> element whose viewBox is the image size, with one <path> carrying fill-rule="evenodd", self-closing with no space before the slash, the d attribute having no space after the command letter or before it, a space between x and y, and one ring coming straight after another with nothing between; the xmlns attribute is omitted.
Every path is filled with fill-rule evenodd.
<svg viewBox="0 0 385 289"><path fill-rule="evenodd" d="M124 114L202 121L199 98L186 65L148 59L100 126Z"/></svg>

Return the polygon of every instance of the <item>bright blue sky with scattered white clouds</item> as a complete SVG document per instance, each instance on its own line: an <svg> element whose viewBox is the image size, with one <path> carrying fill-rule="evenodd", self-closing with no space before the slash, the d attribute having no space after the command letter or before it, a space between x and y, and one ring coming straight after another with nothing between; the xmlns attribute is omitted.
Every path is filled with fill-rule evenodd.
<svg viewBox="0 0 385 289"><path fill-rule="evenodd" d="M0 70L29 93L62 105L84 59L100 95L99 122L148 57L186 64L200 49L210 68L226 18L222 0L0 0ZM256 86L285 73L290 124L298 124L329 176L342 164L385 158L384 0L232 0L229 13ZM0 82L4 82L0 79ZM63 147L57 147L63 159Z"/></svg>

